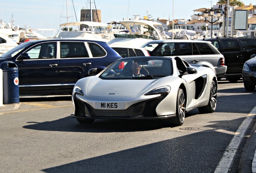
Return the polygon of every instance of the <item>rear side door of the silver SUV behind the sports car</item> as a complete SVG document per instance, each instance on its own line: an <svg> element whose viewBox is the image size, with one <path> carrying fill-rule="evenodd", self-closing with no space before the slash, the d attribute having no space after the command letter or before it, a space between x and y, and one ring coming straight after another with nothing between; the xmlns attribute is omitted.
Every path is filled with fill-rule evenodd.
<svg viewBox="0 0 256 173"><path fill-rule="evenodd" d="M179 51L175 51L175 55L180 56L189 64L202 64L202 56L194 42L180 42L177 46Z"/></svg>

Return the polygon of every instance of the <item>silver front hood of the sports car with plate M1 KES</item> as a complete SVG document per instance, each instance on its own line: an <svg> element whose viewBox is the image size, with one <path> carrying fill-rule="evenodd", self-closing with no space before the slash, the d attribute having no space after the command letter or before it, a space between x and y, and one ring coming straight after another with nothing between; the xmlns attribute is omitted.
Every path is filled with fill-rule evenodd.
<svg viewBox="0 0 256 173"><path fill-rule="evenodd" d="M168 84L166 82L168 78ZM131 101L143 100L145 93L162 86L169 85L169 82L175 80L175 77L167 76L157 79L130 79L130 80L103 80L97 76L83 78L78 80L76 86L83 90L87 100L101 101ZM152 95L149 97L157 97ZM147 97L147 99L149 99Z"/></svg>

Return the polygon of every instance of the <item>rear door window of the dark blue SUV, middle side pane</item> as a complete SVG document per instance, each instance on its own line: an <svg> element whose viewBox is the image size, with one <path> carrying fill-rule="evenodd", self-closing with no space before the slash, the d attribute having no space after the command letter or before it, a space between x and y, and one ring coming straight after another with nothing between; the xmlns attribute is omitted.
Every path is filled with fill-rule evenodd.
<svg viewBox="0 0 256 173"><path fill-rule="evenodd" d="M84 42L60 42L61 58L89 57Z"/></svg>

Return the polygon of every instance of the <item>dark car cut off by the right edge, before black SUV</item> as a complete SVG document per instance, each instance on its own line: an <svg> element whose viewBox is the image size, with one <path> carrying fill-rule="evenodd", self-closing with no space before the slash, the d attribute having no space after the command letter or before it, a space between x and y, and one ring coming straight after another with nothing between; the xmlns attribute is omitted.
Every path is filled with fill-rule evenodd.
<svg viewBox="0 0 256 173"><path fill-rule="evenodd" d="M256 85L256 54L253 54L251 58L244 63L242 72L244 88L247 91L254 91Z"/></svg>

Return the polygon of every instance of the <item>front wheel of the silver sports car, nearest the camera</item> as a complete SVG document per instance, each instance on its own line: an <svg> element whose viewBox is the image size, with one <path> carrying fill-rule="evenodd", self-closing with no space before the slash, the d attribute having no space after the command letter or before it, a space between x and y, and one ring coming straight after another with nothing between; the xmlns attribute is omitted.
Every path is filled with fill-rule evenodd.
<svg viewBox="0 0 256 173"><path fill-rule="evenodd" d="M176 104L176 117L170 119L171 125L181 126L184 123L186 113L186 99L182 89L178 90L177 104Z"/></svg>

